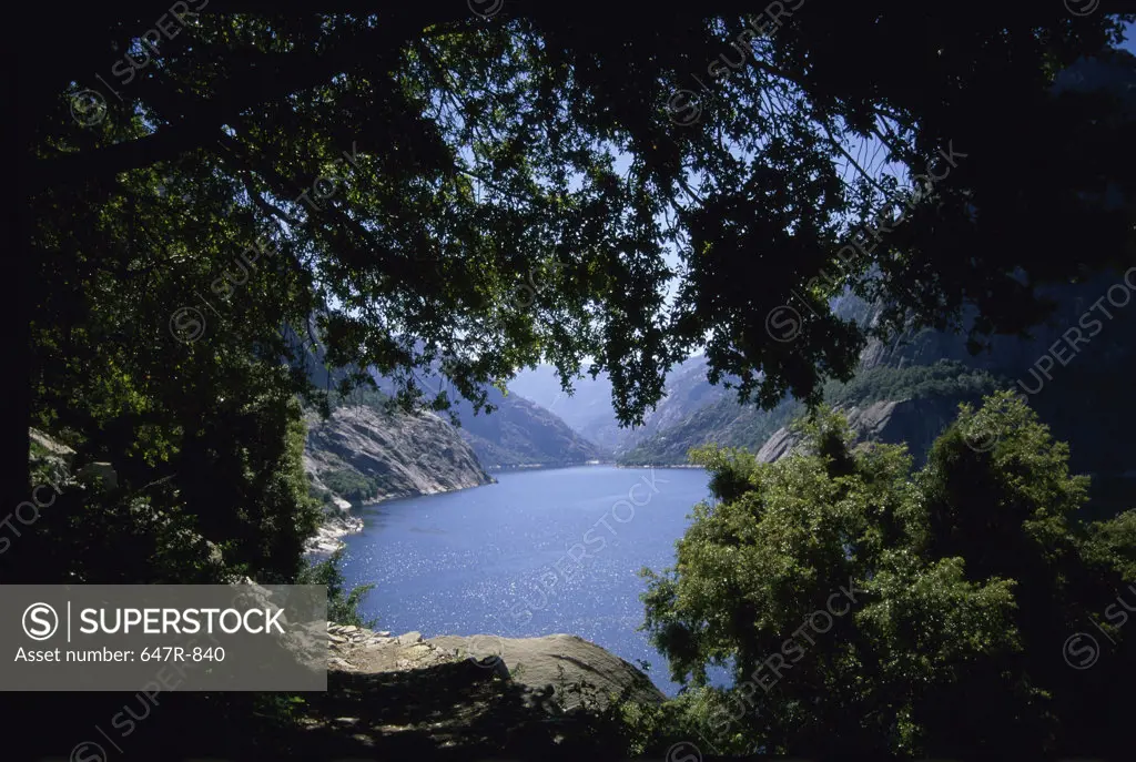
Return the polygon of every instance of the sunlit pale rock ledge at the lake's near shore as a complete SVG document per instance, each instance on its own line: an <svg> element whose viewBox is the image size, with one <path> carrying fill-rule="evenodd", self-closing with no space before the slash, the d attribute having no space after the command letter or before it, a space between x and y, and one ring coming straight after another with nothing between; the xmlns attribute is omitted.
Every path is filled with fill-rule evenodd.
<svg viewBox="0 0 1136 762"><path fill-rule="evenodd" d="M328 626L333 672L382 673L429 669L469 661L533 692L551 686L566 709L582 697L607 706L609 697L628 689L628 698L661 703L666 696L642 671L611 652L576 635L506 638L496 635L443 635L424 640L418 633L392 636L361 627ZM584 685L582 689L574 685Z"/></svg>

